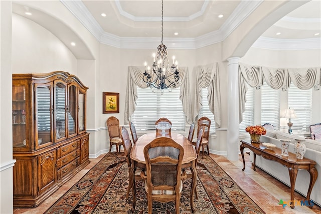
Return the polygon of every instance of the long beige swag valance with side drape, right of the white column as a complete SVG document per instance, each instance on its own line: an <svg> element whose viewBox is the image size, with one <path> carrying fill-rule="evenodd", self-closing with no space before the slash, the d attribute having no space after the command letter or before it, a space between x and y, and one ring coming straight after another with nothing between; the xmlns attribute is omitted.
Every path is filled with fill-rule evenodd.
<svg viewBox="0 0 321 214"><path fill-rule="evenodd" d="M239 63L239 122L245 111L247 85L260 87L263 82L273 89L287 90L292 82L299 89L320 90L321 67L313 68L266 68Z"/></svg>

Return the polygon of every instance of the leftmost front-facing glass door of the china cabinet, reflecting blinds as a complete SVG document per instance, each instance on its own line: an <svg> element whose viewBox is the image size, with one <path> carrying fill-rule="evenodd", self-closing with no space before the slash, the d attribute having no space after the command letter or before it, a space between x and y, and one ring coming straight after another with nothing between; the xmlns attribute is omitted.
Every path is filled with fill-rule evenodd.
<svg viewBox="0 0 321 214"><path fill-rule="evenodd" d="M53 114L52 85L36 85L36 147L53 143L51 118Z"/></svg>

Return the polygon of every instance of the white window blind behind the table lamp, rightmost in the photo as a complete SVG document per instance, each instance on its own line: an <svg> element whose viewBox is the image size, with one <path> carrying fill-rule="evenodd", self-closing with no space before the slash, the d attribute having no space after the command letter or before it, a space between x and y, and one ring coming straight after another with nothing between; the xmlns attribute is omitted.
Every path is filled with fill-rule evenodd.
<svg viewBox="0 0 321 214"><path fill-rule="evenodd" d="M312 111L312 89L302 90L291 83L288 89L288 107L294 109L296 118L292 119L292 131L309 132Z"/></svg>

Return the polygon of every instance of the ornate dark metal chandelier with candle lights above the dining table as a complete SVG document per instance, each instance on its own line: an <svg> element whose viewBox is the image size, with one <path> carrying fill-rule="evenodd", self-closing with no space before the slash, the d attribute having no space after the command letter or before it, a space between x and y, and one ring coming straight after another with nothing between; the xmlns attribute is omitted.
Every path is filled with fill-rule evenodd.
<svg viewBox="0 0 321 214"><path fill-rule="evenodd" d="M145 72L142 77L142 80L146 83L147 87L151 89L161 89L161 94L164 93L164 89L176 88L176 84L178 84L180 80L178 64L177 61L175 62L175 56L173 56L173 64L170 66L169 59L167 57L167 47L163 44L163 12L162 0L162 44L157 47L156 54L152 55L154 59L152 71L150 71L150 67L147 67L147 63L145 62ZM152 74L150 74L150 72L152 72Z"/></svg>

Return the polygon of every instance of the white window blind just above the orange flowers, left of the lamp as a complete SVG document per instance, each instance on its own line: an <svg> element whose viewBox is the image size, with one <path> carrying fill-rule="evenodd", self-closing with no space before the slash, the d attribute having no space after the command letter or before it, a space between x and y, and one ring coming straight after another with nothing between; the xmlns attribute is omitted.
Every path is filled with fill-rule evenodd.
<svg viewBox="0 0 321 214"><path fill-rule="evenodd" d="M270 123L275 130L280 128L280 91L267 84L261 87L261 125Z"/></svg>

